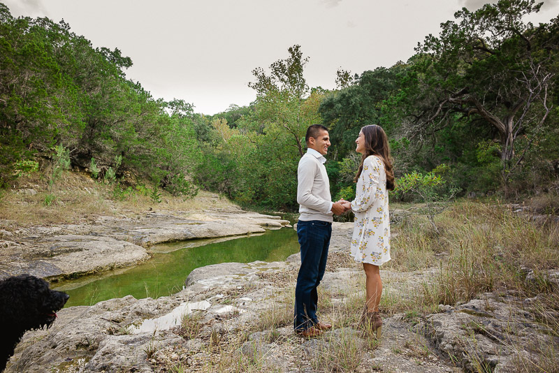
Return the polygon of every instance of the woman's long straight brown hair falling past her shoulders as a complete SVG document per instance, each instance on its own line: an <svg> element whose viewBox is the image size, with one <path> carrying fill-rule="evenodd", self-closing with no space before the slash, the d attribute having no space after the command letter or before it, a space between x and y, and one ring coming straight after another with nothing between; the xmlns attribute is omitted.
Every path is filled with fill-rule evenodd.
<svg viewBox="0 0 559 373"><path fill-rule="evenodd" d="M386 172L386 189L389 191L394 190L394 170L392 169L392 159L390 156L389 139L384 133L384 129L377 124L364 126L361 129L363 137L365 138L365 154L361 157L361 164L357 170L357 175L354 181L357 182L361 172L363 171L363 162L368 156L378 156L382 163L384 163L384 171Z"/></svg>

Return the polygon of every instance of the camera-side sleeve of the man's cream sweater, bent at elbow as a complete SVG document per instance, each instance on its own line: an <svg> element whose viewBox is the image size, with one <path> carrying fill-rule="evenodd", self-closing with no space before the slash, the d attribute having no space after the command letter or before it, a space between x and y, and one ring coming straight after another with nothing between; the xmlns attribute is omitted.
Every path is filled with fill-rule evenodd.
<svg viewBox="0 0 559 373"><path fill-rule="evenodd" d="M317 162L310 159L302 159L299 163L297 169L297 203L312 210L328 214L332 208L332 201L312 194L315 177L320 172Z"/></svg>

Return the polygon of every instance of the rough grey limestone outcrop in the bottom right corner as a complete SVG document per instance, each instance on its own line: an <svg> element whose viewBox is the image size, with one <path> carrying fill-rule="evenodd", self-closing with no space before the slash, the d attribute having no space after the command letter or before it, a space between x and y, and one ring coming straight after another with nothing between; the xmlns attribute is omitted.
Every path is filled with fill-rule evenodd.
<svg viewBox="0 0 559 373"><path fill-rule="evenodd" d="M420 328L437 349L457 359L467 372L477 367L515 372L514 359L530 351L559 344L552 330L537 322L518 299L503 302L494 293L449 312L431 314Z"/></svg>

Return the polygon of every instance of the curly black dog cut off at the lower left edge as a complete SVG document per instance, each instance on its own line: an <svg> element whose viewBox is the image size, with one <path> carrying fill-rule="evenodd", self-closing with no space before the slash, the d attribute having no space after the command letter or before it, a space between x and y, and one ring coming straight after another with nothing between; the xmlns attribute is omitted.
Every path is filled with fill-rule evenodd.
<svg viewBox="0 0 559 373"><path fill-rule="evenodd" d="M49 328L70 296L31 275L0 281L0 372L27 330Z"/></svg>

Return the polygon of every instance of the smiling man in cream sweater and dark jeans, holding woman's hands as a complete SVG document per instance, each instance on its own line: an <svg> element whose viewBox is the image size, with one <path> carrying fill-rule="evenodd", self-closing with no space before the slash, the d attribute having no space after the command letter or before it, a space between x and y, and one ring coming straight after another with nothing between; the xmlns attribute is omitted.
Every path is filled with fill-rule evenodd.
<svg viewBox="0 0 559 373"><path fill-rule="evenodd" d="M319 286L324 271L328 246L332 235L332 216L346 211L344 200L331 201L330 182L326 174L324 156L330 146L328 129L313 124L305 136L307 153L299 161L297 170L297 202L300 217L297 235L301 251L301 266L295 288L295 320L293 327L298 335L317 337L332 328L330 323L317 319Z"/></svg>

